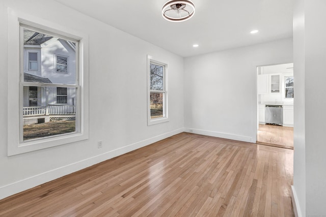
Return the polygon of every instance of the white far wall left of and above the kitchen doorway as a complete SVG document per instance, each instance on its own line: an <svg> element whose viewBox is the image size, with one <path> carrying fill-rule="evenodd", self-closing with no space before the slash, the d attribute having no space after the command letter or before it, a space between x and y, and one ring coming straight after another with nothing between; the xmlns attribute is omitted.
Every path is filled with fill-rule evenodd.
<svg viewBox="0 0 326 217"><path fill-rule="evenodd" d="M292 39L185 58L186 130L256 142L256 67L292 61Z"/></svg>

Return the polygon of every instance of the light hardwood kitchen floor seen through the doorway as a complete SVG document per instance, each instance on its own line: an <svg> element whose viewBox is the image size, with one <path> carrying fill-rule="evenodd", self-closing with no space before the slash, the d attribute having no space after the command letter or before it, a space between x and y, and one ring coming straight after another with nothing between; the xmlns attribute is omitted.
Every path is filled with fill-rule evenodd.
<svg viewBox="0 0 326 217"><path fill-rule="evenodd" d="M293 149L293 128L259 125L257 143Z"/></svg>

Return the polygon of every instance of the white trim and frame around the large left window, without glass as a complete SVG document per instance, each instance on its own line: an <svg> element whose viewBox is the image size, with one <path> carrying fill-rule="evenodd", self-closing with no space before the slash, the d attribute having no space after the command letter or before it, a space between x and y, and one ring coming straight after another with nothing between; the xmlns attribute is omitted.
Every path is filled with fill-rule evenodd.
<svg viewBox="0 0 326 217"><path fill-rule="evenodd" d="M20 78L23 74L20 69L23 67L23 53L20 52L20 38L19 26L20 23L34 26L36 29L46 30L47 32L55 33L58 36L66 36L65 38L72 38L79 41L80 55L76 56L78 66L76 70L79 72L79 107L78 118L79 126L77 133L64 134L60 136L46 137L43 139L36 139L32 141L20 141L20 131L22 131L22 87L20 85ZM69 34L67 34L69 33ZM33 15L25 14L24 12L15 11L8 8L8 156L21 154L25 152L40 150L53 146L63 145L67 143L86 140L89 138L89 83L88 83L88 66L89 66L89 50L88 50L88 35L76 32L69 26L62 26L60 24L52 23L43 20ZM20 60L19 60L20 59ZM20 64L18 64L20 61ZM25 83L28 85L28 83ZM31 83L35 86L35 83ZM47 84L46 86L62 86L69 87L69 85ZM39 84L37 84L39 86ZM21 114L21 115L17 115Z"/></svg>

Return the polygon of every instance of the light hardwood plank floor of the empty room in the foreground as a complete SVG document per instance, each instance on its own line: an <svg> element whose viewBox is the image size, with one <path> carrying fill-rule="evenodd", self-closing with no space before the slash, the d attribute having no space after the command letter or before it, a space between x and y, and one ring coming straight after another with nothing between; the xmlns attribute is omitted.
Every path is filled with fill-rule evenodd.
<svg viewBox="0 0 326 217"><path fill-rule="evenodd" d="M293 150L181 133L0 200L0 216L294 216Z"/></svg>

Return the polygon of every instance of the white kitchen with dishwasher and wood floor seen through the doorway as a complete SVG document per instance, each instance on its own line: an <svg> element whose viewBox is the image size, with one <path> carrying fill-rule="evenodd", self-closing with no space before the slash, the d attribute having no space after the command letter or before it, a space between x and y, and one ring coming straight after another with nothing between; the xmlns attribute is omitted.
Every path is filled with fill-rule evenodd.
<svg viewBox="0 0 326 217"><path fill-rule="evenodd" d="M293 149L293 63L257 67L257 143Z"/></svg>

